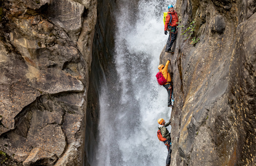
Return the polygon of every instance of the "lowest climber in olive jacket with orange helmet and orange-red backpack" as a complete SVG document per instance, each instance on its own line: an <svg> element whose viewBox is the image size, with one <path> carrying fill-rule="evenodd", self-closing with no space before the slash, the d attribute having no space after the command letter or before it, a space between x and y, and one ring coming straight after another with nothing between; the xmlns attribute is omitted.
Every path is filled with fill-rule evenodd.
<svg viewBox="0 0 256 166"><path fill-rule="evenodd" d="M168 155L166 158L166 166L170 166L172 153L172 139L166 127L169 126L171 122L165 124L165 120L163 118L158 119L157 122L160 124L157 131L157 137L159 140L163 141L164 145L166 145L167 147Z"/></svg>

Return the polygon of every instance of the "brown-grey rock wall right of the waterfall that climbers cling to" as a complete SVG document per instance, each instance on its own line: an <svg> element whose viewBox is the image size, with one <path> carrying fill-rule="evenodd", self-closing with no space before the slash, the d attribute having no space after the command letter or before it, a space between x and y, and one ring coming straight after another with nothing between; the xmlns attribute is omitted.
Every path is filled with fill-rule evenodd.
<svg viewBox="0 0 256 166"><path fill-rule="evenodd" d="M200 40L179 28L175 54L160 55L174 83L171 165L255 165L256 2L177 0L175 10Z"/></svg>

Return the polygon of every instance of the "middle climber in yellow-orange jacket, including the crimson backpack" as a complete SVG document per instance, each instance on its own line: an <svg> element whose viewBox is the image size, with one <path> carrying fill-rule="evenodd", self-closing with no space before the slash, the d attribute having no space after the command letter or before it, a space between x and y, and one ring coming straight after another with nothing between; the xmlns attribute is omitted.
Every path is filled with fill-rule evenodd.
<svg viewBox="0 0 256 166"><path fill-rule="evenodd" d="M167 71L169 63L170 63L170 59L167 60L165 66L163 64L160 64L158 66L159 72L156 74L156 79L158 81L158 84L163 85L164 88L167 90L167 93L168 93L168 107L172 108L172 95L171 95L172 94L172 86L171 86L172 79L171 79L170 74Z"/></svg>

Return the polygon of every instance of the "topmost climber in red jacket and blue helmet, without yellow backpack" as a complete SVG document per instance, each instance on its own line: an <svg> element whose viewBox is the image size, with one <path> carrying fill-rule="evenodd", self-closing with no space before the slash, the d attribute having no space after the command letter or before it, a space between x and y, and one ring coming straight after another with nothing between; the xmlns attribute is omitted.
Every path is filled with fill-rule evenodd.
<svg viewBox="0 0 256 166"><path fill-rule="evenodd" d="M173 50L171 50L172 44L176 39L177 36L177 26L178 26L178 22L179 22L179 18L177 15L177 12L174 11L174 8L172 5L168 6L168 14L166 15L165 18L165 25L164 25L164 34L167 35L167 30L169 31L169 37L168 40L166 42L166 47L165 47L165 52L168 53L174 53Z"/></svg>

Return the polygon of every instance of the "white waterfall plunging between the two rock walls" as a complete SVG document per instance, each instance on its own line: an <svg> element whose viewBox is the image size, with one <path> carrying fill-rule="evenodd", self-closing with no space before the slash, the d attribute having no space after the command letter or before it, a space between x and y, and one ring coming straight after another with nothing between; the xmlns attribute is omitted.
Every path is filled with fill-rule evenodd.
<svg viewBox="0 0 256 166"><path fill-rule="evenodd" d="M157 138L157 119L168 122L171 109L166 89L157 85L155 75L168 38L163 12L175 1L117 4L115 53L101 86L98 153L92 165L164 165L167 149Z"/></svg>

